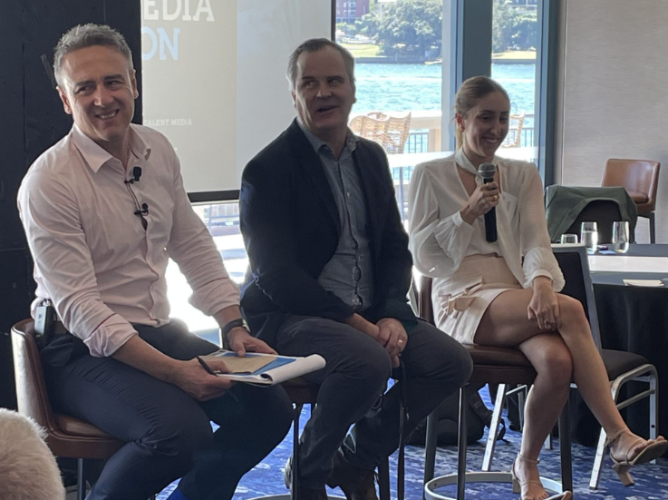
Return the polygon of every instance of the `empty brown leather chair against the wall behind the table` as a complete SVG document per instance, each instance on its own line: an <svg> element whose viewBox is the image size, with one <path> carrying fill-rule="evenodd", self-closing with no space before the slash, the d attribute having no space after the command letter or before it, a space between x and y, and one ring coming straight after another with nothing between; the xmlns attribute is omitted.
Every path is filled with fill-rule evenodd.
<svg viewBox="0 0 668 500"><path fill-rule="evenodd" d="M660 162L611 158L605 162L603 181L601 181L602 186L622 186L629 193L638 208L638 215L650 221L652 243L656 242L654 209L660 167Z"/></svg>

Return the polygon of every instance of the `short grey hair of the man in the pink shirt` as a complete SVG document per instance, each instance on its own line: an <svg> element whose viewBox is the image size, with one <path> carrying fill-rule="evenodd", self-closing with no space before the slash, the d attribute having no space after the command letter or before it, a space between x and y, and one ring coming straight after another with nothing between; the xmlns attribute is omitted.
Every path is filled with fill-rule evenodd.
<svg viewBox="0 0 668 500"><path fill-rule="evenodd" d="M76 25L68 30L53 49L53 74L63 87L63 57L71 52L94 45L110 47L125 56L133 68L132 53L122 34L107 25Z"/></svg>

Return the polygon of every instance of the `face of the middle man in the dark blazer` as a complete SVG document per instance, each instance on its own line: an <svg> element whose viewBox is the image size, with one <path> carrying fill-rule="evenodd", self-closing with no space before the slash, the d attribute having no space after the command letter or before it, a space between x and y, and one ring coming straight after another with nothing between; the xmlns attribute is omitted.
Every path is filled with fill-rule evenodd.
<svg viewBox="0 0 668 500"><path fill-rule="evenodd" d="M299 55L292 97L299 120L316 137L345 137L355 89L334 47Z"/></svg>

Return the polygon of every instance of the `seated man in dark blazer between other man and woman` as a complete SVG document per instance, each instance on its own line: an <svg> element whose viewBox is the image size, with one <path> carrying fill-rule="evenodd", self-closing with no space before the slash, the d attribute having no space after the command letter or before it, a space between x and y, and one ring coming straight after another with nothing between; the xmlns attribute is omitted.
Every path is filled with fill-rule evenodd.
<svg viewBox="0 0 668 500"><path fill-rule="evenodd" d="M408 434L471 371L465 349L408 304L412 260L387 158L347 127L353 67L326 39L295 50L287 77L298 118L241 184L247 321L278 352L327 361L307 376L320 391L300 448L306 499L326 498L325 482L376 498L373 469L399 444L402 394ZM399 381L383 395L391 376Z"/></svg>

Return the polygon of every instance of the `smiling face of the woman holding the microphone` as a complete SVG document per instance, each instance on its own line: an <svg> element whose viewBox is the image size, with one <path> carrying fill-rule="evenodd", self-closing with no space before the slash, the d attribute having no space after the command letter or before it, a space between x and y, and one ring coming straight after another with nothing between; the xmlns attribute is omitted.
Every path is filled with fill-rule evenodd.
<svg viewBox="0 0 668 500"><path fill-rule="evenodd" d="M510 103L500 92L488 93L466 113L455 115L464 136L464 154L474 165L491 162L508 135Z"/></svg>

